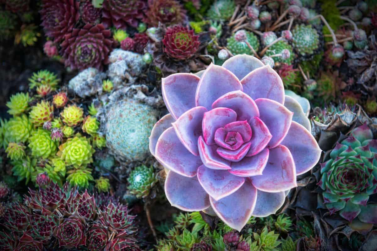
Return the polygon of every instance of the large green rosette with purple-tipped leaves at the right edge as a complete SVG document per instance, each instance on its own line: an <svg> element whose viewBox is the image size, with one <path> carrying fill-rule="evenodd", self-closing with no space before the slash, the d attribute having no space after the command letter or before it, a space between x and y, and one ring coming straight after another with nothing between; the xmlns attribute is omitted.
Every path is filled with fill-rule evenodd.
<svg viewBox="0 0 377 251"><path fill-rule="evenodd" d="M367 204L377 193L377 140L364 124L337 143L330 159L321 164L323 201L331 214L339 211L348 221L356 217L365 223L377 223L377 204Z"/></svg>

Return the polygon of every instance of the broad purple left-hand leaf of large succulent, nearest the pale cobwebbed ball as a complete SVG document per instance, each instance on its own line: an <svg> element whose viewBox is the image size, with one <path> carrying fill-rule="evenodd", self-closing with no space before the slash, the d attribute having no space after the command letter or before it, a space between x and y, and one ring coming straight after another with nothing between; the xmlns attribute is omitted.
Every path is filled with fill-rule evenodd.
<svg viewBox="0 0 377 251"><path fill-rule="evenodd" d="M161 134L155 157L167 169L187 177L195 176L196 170L202 165L200 157L192 155L182 145L173 127Z"/></svg>

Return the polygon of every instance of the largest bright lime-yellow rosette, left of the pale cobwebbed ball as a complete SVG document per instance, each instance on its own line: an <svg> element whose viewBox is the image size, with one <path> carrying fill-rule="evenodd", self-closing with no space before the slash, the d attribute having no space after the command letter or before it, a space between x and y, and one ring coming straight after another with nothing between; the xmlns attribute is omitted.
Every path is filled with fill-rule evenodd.
<svg viewBox="0 0 377 251"><path fill-rule="evenodd" d="M59 146L57 155L66 163L66 166L85 167L93 162L94 152L87 138L76 135Z"/></svg>

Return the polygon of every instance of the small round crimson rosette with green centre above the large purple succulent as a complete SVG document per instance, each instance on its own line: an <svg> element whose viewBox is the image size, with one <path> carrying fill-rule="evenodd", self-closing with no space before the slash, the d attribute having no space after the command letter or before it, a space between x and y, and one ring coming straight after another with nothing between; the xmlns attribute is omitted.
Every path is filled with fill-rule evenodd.
<svg viewBox="0 0 377 251"><path fill-rule="evenodd" d="M164 52L173 59L184 60L192 57L199 48L199 36L183 26L173 26L166 30Z"/></svg>

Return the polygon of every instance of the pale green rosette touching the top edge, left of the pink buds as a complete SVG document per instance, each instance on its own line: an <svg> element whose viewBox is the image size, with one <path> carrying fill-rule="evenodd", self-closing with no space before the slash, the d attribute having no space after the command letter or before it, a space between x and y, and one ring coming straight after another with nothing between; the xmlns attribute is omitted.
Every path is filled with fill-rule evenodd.
<svg viewBox="0 0 377 251"><path fill-rule="evenodd" d="M214 21L224 22L232 17L235 8L233 0L219 0L208 10L207 17Z"/></svg>

